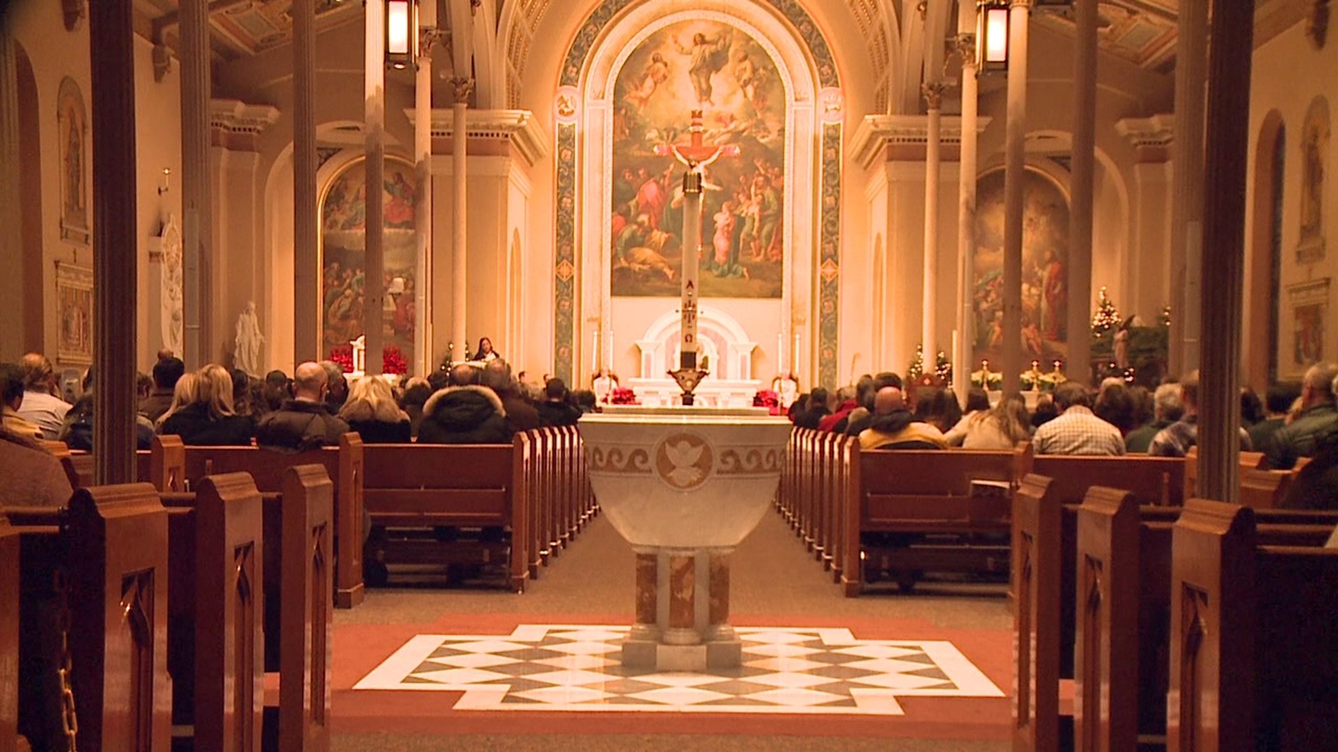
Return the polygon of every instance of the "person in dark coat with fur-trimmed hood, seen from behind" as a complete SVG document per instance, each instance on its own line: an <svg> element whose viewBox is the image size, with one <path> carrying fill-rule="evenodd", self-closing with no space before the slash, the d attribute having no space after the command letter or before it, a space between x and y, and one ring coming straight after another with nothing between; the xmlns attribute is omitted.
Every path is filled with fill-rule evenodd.
<svg viewBox="0 0 1338 752"><path fill-rule="evenodd" d="M475 372L471 365L454 367L451 385L427 400L419 424L420 444L504 444L511 440L502 399L492 389L475 384Z"/></svg>

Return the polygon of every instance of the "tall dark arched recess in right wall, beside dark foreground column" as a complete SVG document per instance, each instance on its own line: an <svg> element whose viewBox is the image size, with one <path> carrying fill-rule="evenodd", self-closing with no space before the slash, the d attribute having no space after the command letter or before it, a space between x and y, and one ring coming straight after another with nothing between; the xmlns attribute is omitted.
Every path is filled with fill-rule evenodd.
<svg viewBox="0 0 1338 752"><path fill-rule="evenodd" d="M1278 379L1278 297L1282 272L1282 197L1287 127L1274 110L1263 119L1255 151L1254 231L1250 237L1247 380L1263 388Z"/></svg>

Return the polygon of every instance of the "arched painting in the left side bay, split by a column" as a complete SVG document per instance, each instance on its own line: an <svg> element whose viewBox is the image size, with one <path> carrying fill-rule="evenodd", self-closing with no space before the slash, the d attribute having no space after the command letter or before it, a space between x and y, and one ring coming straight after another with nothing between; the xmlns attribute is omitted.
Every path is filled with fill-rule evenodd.
<svg viewBox="0 0 1338 752"><path fill-rule="evenodd" d="M381 333L388 348L413 361L413 294L417 286L417 245L413 238L416 195L413 166L385 161L383 245L385 302ZM345 167L330 181L321 201L321 328L324 349L347 345L364 333L367 252L365 162Z"/></svg>

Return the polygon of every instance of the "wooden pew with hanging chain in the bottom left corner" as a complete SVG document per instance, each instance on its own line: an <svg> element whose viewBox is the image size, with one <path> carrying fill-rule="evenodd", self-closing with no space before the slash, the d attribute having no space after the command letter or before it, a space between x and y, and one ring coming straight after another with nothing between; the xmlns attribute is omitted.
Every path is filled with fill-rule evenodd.
<svg viewBox="0 0 1338 752"><path fill-rule="evenodd" d="M52 736L43 696L43 644L54 640L72 698L67 728L84 748L167 749L167 514L154 488L80 488L68 508L8 514L21 535L20 731L35 749L67 743Z"/></svg>

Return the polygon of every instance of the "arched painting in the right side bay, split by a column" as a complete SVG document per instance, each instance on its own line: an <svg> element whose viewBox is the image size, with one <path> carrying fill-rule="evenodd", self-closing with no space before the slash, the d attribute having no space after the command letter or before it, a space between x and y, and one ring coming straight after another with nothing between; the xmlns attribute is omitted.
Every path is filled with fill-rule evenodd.
<svg viewBox="0 0 1338 752"><path fill-rule="evenodd" d="M1049 371L1049 364L1068 352L1069 202L1053 181L1034 170L1026 171L1022 191L1022 357L1040 360ZM1004 170L979 178L977 197L973 369L982 359L997 364L1006 336Z"/></svg>

